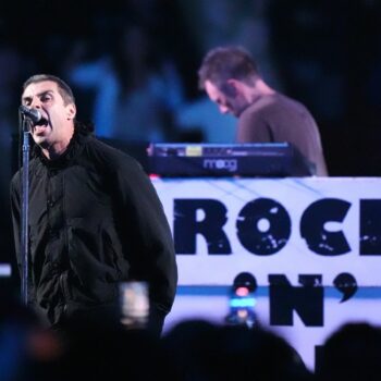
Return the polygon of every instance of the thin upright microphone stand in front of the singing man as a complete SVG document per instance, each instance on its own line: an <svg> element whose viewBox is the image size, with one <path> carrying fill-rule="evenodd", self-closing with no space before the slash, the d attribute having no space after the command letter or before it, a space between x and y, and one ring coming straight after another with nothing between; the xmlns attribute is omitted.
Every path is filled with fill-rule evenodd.
<svg viewBox="0 0 381 381"><path fill-rule="evenodd" d="M22 280L21 292L22 300L25 305L28 304L28 216L29 216L29 131L32 121L28 118L22 116L23 132L23 171L22 171L22 210L21 210L21 234L20 234L20 257L22 260Z"/></svg>

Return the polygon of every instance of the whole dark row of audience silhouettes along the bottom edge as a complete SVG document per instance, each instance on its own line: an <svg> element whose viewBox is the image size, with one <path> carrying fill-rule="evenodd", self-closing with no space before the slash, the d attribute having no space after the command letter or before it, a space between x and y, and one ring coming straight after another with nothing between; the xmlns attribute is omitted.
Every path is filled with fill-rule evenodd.
<svg viewBox="0 0 381 381"><path fill-rule="evenodd" d="M315 372L281 335L261 327L183 320L161 337L120 321L67 321L42 328L17 298L1 295L0 374L5 381L376 381L381 373L381 329L351 322L321 347Z"/></svg>

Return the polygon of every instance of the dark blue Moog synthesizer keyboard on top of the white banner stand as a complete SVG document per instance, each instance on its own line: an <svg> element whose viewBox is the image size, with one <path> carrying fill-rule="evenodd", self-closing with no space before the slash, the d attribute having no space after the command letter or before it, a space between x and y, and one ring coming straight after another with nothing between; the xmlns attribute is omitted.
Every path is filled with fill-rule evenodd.
<svg viewBox="0 0 381 381"><path fill-rule="evenodd" d="M148 147L151 174L160 176L311 176L314 167L288 143L187 144Z"/></svg>

